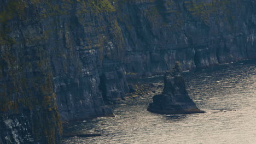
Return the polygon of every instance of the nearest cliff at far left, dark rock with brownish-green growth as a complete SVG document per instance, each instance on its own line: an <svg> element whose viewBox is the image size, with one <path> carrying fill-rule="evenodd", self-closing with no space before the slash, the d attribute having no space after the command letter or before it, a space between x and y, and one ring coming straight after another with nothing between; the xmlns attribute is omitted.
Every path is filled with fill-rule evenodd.
<svg viewBox="0 0 256 144"><path fill-rule="evenodd" d="M0 143L61 143L46 39L31 3L0 1Z"/></svg>

